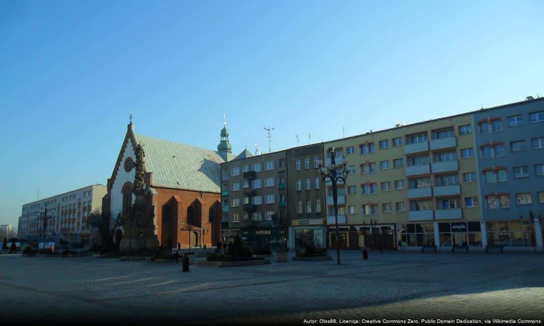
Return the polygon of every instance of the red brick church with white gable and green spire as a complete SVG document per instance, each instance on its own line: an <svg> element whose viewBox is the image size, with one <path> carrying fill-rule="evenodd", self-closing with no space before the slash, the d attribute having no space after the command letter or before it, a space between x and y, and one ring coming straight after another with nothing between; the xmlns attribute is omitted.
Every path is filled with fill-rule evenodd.
<svg viewBox="0 0 544 326"><path fill-rule="evenodd" d="M221 239L220 164L232 158L226 126L218 151L213 151L137 134L131 121L102 199L103 212L112 219L128 213L134 203L138 145L145 150L144 182L152 198L159 244L164 248L176 248L178 242L182 248L217 244ZM121 239L137 236L125 234L120 226L114 241L119 245Z"/></svg>

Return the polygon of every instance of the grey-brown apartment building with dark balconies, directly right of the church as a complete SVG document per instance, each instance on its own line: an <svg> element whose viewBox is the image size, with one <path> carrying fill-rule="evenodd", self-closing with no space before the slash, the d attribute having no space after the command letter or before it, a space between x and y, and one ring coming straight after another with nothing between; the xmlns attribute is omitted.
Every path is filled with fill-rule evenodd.
<svg viewBox="0 0 544 326"><path fill-rule="evenodd" d="M287 245L286 151L221 163L223 241L240 236L248 247Z"/></svg>

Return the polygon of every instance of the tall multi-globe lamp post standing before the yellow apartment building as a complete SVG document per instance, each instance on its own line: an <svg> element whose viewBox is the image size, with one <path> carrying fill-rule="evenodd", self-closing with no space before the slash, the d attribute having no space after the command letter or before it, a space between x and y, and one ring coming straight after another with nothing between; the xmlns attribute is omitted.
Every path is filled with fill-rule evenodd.
<svg viewBox="0 0 544 326"><path fill-rule="evenodd" d="M323 161L318 162L319 171L323 182L332 182L332 201L335 207L335 227L336 227L336 260L337 265L340 265L340 232L338 231L338 192L336 183L341 181L345 186L345 180L348 177L345 165L348 164L345 158L339 164L336 163L336 153L334 147L329 147L331 153L331 164L327 167L323 166Z"/></svg>

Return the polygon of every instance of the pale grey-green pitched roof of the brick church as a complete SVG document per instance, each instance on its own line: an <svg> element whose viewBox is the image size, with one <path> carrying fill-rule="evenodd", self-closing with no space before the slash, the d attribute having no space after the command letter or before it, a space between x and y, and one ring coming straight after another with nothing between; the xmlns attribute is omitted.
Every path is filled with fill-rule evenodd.
<svg viewBox="0 0 544 326"><path fill-rule="evenodd" d="M134 133L144 146L145 170L153 173L153 186L221 192L220 165L216 151Z"/></svg>

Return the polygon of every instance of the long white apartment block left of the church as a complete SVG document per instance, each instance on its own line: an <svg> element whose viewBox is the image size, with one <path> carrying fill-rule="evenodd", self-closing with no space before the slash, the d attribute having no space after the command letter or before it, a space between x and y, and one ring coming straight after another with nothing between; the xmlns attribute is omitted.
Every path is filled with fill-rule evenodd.
<svg viewBox="0 0 544 326"><path fill-rule="evenodd" d="M46 241L65 239L89 243L90 227L86 221L92 212L102 210L102 197L106 192L106 186L95 184L24 204L18 237L42 241L44 222L38 218L44 216L47 208L51 219L46 225Z"/></svg>

